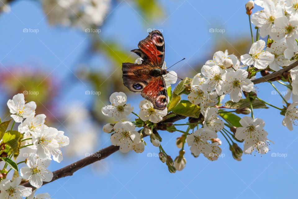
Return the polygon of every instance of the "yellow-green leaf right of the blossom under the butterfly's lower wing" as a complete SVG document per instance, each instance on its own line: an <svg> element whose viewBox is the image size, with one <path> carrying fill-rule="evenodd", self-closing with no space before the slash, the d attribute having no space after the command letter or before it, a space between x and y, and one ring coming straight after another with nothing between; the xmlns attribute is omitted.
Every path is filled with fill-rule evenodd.
<svg viewBox="0 0 298 199"><path fill-rule="evenodd" d="M186 117L198 118L200 116L200 106L192 104L188 100L181 100L173 109L173 113Z"/></svg>

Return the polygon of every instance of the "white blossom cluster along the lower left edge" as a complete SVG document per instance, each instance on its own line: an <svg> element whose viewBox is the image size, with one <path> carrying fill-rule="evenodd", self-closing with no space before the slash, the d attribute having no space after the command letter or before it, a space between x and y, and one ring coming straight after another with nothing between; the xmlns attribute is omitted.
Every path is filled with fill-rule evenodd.
<svg viewBox="0 0 298 199"><path fill-rule="evenodd" d="M18 133L23 139L20 148L28 147L32 152L23 161L26 166L21 167L20 177L11 181L6 178L8 172L5 177L1 174L3 179L1 178L0 182L0 198L49 198L47 193L37 194L34 197L35 191L32 192L31 188L20 185L20 182L23 178L36 188L41 187L43 182L50 182L53 173L47 167L51 160L62 161L61 148L69 144L69 138L64 135L63 131L45 125L46 116L35 115L36 103L33 101L26 103L24 94L13 96L7 101L7 106L14 120L13 124L20 123Z"/></svg>

